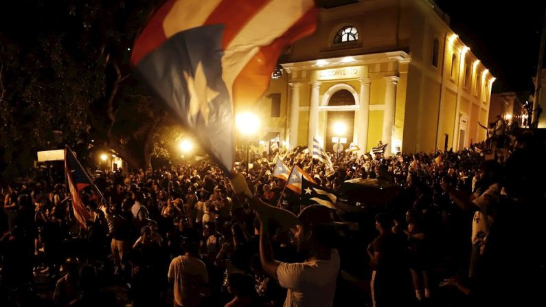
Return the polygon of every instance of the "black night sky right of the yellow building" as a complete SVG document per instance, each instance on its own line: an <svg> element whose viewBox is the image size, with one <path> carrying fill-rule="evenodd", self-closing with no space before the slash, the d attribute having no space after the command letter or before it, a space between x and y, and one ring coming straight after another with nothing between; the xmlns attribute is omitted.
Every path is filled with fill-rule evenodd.
<svg viewBox="0 0 546 307"><path fill-rule="evenodd" d="M436 0L497 80L493 93L532 91L546 1Z"/></svg>

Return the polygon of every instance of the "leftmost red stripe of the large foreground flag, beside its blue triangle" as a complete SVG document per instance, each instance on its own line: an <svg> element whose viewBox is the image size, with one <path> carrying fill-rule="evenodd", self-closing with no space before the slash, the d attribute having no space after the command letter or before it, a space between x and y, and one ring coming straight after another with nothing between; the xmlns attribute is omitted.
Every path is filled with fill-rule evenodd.
<svg viewBox="0 0 546 307"><path fill-rule="evenodd" d="M130 56L130 65L137 66L138 62L140 62L146 54L149 54L153 49L159 47L167 40L165 32L163 32L163 21L177 1L178 0L170 0L155 12L155 15L135 41L133 53Z"/></svg>

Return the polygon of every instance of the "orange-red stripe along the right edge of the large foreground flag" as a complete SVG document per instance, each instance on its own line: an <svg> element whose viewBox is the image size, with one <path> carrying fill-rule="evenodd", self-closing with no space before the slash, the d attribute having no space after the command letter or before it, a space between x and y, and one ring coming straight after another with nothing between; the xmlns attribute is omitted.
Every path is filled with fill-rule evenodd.
<svg viewBox="0 0 546 307"><path fill-rule="evenodd" d="M284 46L315 32L317 12L317 8L308 10L282 36L276 38L270 45L261 47L258 54L244 66L233 86L234 104L238 109L242 103L256 102L262 97L269 87L271 73Z"/></svg>

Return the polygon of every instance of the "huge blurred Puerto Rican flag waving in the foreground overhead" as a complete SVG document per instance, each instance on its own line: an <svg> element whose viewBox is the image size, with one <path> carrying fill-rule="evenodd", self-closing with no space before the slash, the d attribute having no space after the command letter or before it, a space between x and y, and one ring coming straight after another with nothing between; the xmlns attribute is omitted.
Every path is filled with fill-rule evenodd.
<svg viewBox="0 0 546 307"><path fill-rule="evenodd" d="M258 101L282 49L311 34L316 16L313 0L169 0L130 62L229 172L234 107Z"/></svg>

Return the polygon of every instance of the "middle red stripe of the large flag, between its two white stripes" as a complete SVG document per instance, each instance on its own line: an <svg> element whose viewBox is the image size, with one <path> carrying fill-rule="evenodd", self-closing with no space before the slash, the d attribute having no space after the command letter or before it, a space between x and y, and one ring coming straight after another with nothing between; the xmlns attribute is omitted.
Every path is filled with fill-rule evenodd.
<svg viewBox="0 0 546 307"><path fill-rule="evenodd" d="M224 24L222 49L226 49L238 32L271 0L223 0L210 14L205 25Z"/></svg>

